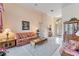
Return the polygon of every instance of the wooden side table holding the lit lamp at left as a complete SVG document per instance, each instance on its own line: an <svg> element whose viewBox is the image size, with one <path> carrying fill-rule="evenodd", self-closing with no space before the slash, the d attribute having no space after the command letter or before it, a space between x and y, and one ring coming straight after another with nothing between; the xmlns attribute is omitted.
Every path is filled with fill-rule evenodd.
<svg viewBox="0 0 79 59"><path fill-rule="evenodd" d="M6 41L6 39L0 40L0 48L11 48L14 47L16 42L15 39L9 39Z"/></svg>

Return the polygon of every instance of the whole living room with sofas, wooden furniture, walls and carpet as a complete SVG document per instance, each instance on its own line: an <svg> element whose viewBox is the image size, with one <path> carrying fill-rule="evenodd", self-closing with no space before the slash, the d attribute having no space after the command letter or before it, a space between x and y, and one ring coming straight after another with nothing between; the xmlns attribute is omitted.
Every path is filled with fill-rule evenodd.
<svg viewBox="0 0 79 59"><path fill-rule="evenodd" d="M78 7L74 3L1 3L1 54L78 56Z"/></svg>

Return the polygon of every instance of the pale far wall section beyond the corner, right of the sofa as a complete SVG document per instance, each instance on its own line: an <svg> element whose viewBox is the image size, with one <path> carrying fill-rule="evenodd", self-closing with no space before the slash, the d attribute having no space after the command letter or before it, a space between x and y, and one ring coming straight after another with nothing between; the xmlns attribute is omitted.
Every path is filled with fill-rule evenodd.
<svg viewBox="0 0 79 59"><path fill-rule="evenodd" d="M44 37L48 36L48 27L52 25L52 34L55 35L55 18L47 14L43 14L43 20L41 24L41 35Z"/></svg>

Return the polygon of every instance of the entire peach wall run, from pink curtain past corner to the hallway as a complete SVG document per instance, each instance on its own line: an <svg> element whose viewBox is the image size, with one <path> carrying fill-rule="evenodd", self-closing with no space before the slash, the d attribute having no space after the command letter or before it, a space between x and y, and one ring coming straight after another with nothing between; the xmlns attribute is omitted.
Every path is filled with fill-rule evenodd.
<svg viewBox="0 0 79 59"><path fill-rule="evenodd" d="M52 33L55 36L56 17L34 11L26 6L20 4L4 4L3 24L4 29L10 28L13 32L22 31L22 20L30 22L30 30L35 32L40 27L41 36L48 36L48 27L52 25ZM40 24L39 24L40 23Z"/></svg>

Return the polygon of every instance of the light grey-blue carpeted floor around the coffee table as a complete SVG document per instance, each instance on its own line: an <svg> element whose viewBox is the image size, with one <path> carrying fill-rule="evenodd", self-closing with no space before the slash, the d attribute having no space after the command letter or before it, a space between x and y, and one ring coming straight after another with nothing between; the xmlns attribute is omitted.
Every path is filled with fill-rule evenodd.
<svg viewBox="0 0 79 59"><path fill-rule="evenodd" d="M55 38L48 39L42 45L36 45L34 48L31 44L13 47L8 49L7 56L52 56L59 44L56 42Z"/></svg>

